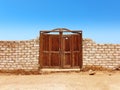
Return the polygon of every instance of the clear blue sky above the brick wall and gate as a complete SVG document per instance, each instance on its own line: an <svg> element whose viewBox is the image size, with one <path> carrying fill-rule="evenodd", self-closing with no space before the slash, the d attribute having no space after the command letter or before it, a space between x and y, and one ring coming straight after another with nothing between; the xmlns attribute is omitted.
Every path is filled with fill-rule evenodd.
<svg viewBox="0 0 120 90"><path fill-rule="evenodd" d="M0 0L0 40L29 40L60 27L120 43L120 0Z"/></svg>

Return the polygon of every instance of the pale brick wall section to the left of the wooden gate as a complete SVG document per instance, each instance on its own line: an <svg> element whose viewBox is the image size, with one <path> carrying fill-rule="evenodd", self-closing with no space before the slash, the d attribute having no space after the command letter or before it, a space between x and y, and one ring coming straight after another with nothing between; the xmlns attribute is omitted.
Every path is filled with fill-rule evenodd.
<svg viewBox="0 0 120 90"><path fill-rule="evenodd" d="M0 70L37 70L39 41L0 41Z"/></svg>

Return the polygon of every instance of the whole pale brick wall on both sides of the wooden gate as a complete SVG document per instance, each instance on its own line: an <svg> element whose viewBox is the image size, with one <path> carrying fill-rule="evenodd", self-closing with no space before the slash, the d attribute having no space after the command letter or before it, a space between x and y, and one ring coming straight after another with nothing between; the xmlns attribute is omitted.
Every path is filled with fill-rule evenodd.
<svg viewBox="0 0 120 90"><path fill-rule="evenodd" d="M83 67L120 65L120 44L97 44L83 39ZM39 40L0 41L0 70L38 70Z"/></svg>

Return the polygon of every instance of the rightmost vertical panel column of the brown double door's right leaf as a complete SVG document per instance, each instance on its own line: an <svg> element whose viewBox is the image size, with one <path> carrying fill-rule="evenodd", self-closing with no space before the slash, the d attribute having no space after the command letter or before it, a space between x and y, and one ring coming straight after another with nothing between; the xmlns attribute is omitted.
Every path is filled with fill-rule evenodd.
<svg viewBox="0 0 120 90"><path fill-rule="evenodd" d="M72 66L82 67L82 38L81 34L72 35Z"/></svg>

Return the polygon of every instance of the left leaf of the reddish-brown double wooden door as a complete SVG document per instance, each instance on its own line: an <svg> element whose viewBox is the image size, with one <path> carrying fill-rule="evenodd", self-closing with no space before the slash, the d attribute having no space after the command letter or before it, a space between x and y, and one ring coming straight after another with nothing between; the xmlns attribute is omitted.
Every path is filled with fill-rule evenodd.
<svg viewBox="0 0 120 90"><path fill-rule="evenodd" d="M60 66L60 38L59 35L43 34L40 39L41 67Z"/></svg>

